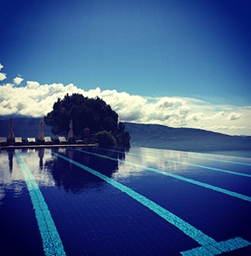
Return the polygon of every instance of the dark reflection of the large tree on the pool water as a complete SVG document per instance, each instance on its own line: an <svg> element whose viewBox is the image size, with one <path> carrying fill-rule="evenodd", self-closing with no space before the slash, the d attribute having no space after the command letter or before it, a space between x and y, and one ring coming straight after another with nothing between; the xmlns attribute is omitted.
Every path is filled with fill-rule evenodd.
<svg viewBox="0 0 251 256"><path fill-rule="evenodd" d="M65 149L64 151L53 149L53 151L90 167L93 170L97 170L108 177L111 177L119 168L118 162L115 160L99 158L95 155L88 154L88 151L97 153L99 149L96 148L85 147L82 148L81 151L74 149ZM104 154L104 152L102 152L102 154ZM120 153L107 151L105 154L115 159L125 159L125 150L121 150ZM101 180L70 162L67 163L64 159L54 154L52 154L51 159L46 160L44 166L53 176L55 185L63 187L67 192L80 193L89 189L100 190L106 184L104 180Z"/></svg>

